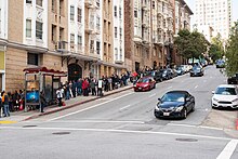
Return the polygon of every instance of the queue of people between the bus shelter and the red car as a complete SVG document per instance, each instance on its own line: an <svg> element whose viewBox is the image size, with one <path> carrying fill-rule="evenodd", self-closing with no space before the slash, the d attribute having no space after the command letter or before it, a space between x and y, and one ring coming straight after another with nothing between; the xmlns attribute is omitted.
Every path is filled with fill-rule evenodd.
<svg viewBox="0 0 238 159"><path fill-rule="evenodd" d="M89 96L90 93L93 96L103 96L103 92L108 92L115 89L118 89L123 85L128 85L130 79L130 72L121 75L111 75L110 77L103 76L100 79L95 78L83 78L77 81L69 81L62 84L56 90L56 96L58 101L58 106L63 105L62 100L70 100L72 97L83 95Z"/></svg>

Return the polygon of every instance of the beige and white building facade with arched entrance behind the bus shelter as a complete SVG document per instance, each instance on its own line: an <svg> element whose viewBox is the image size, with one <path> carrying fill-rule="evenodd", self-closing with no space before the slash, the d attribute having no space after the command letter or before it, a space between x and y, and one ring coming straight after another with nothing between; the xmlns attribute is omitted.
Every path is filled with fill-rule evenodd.
<svg viewBox="0 0 238 159"><path fill-rule="evenodd" d="M28 67L66 71L62 82L122 74L123 6L123 0L0 1L0 90L24 89Z"/></svg>

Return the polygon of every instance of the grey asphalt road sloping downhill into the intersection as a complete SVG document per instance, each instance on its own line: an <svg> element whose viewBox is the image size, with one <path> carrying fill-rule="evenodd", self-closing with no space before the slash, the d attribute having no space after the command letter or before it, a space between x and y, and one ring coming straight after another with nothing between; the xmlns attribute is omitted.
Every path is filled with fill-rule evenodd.
<svg viewBox="0 0 238 159"><path fill-rule="evenodd" d="M235 110L211 109L212 90L226 83L213 66L149 92L124 91L26 122L0 125L1 158L237 159ZM187 90L196 110L185 120L156 119L157 98Z"/></svg>

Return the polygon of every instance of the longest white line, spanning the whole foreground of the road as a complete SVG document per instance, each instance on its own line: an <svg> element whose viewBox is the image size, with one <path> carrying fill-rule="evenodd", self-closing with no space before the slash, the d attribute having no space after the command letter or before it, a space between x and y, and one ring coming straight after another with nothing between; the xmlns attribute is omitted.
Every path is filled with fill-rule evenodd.
<svg viewBox="0 0 238 159"><path fill-rule="evenodd" d="M91 131L91 132L116 132L116 133L137 133L137 134L160 134L160 135L172 135L172 136L186 136L208 140L221 140L230 141L228 137L215 137L207 135L196 134L184 134L184 133L172 133L172 132L155 132L155 131L133 131L133 130L115 130L115 129L77 129L77 128L22 128L22 127L0 127L0 130L51 130L51 131Z"/></svg>

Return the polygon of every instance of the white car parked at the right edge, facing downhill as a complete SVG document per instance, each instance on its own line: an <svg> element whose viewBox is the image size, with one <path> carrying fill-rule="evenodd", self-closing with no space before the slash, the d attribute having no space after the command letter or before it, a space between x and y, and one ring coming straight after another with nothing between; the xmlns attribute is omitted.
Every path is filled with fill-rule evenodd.
<svg viewBox="0 0 238 159"><path fill-rule="evenodd" d="M236 85L222 84L212 93L212 108L238 108L238 89Z"/></svg>

